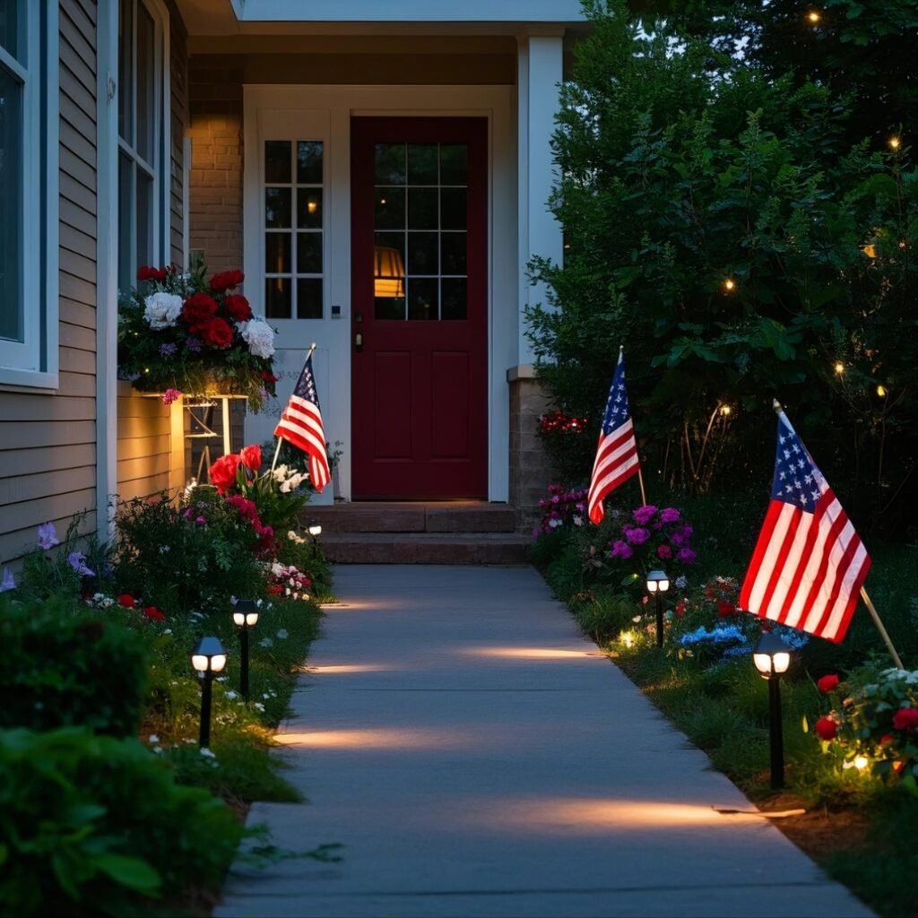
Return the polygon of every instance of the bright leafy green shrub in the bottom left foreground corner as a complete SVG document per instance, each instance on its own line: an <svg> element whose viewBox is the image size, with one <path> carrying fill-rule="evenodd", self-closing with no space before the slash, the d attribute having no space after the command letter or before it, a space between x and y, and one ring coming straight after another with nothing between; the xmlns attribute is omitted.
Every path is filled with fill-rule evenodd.
<svg viewBox="0 0 918 918"><path fill-rule="evenodd" d="M66 728L0 732L0 912L151 913L217 890L243 830L137 740Z"/></svg>

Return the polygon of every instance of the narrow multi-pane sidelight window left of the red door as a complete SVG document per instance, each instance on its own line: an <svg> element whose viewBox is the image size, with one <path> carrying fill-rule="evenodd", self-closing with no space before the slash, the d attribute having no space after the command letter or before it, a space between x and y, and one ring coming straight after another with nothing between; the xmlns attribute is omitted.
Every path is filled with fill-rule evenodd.
<svg viewBox="0 0 918 918"><path fill-rule="evenodd" d="M321 319L323 229L321 140L264 142L264 314Z"/></svg>

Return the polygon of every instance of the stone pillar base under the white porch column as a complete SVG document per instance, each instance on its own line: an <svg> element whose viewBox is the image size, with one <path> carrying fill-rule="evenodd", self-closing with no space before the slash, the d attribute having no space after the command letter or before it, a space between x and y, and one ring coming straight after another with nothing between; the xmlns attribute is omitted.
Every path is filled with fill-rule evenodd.
<svg viewBox="0 0 918 918"><path fill-rule="evenodd" d="M510 490L517 509L517 530L529 533L542 517L539 500L551 483L552 470L542 441L539 418L549 397L535 378L532 366L518 366L507 375L510 390Z"/></svg>

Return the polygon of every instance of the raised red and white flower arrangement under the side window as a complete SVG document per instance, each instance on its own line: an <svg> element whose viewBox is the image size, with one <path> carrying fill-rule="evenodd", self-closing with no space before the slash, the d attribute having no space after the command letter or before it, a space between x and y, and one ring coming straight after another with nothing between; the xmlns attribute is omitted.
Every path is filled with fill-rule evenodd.
<svg viewBox="0 0 918 918"><path fill-rule="evenodd" d="M244 395L252 410L274 396L274 330L236 292L241 271L207 279L203 264L142 267L118 304L118 372L135 388L185 395Z"/></svg>

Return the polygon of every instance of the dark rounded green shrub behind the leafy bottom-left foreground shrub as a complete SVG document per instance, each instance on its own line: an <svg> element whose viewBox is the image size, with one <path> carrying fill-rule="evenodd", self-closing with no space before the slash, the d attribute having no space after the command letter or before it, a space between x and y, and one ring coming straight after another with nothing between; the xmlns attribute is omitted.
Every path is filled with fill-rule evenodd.
<svg viewBox="0 0 918 918"><path fill-rule="evenodd" d="M50 730L79 724L137 733L147 643L118 610L75 609L68 599L0 597L0 727Z"/></svg>

